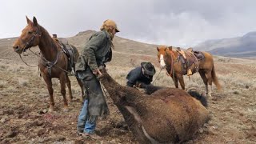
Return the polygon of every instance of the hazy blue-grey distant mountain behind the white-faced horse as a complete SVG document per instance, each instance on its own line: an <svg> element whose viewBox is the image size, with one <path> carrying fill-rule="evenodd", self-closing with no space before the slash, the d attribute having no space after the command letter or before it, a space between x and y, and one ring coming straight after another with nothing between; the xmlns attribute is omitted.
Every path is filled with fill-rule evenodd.
<svg viewBox="0 0 256 144"><path fill-rule="evenodd" d="M195 46L196 50L209 51L214 55L236 58L256 57L256 31L237 38L215 39Z"/></svg>

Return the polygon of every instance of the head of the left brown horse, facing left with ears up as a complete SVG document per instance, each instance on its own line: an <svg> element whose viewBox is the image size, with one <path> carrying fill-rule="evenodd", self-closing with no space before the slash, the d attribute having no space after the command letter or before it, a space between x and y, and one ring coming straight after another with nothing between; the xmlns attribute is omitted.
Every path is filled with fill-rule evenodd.
<svg viewBox="0 0 256 144"><path fill-rule="evenodd" d="M33 18L33 22L26 17L27 26L22 30L21 36L14 42L14 51L18 54L22 54L23 51L32 47L38 46L41 37L40 26L36 18Z"/></svg>

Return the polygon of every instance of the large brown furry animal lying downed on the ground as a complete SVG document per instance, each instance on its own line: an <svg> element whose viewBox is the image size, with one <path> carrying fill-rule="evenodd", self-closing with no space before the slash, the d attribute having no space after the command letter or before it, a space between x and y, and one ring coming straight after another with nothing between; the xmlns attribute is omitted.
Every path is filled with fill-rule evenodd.
<svg viewBox="0 0 256 144"><path fill-rule="evenodd" d="M165 88L149 96L101 71L100 82L140 143L184 142L209 119L206 107L185 90Z"/></svg>

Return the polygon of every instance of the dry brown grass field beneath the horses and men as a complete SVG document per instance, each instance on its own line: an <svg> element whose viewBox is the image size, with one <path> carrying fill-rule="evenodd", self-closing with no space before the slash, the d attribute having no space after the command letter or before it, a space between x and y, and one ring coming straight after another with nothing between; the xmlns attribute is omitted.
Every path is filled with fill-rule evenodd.
<svg viewBox="0 0 256 144"><path fill-rule="evenodd" d="M81 50L83 44L75 42L79 36L82 37L77 35L69 40ZM74 94L74 100L69 102L70 110L62 111L60 85L54 79L56 110L48 113L48 91L38 68L30 68L18 58L10 48L13 39L4 42L0 41L0 143L136 143L109 97L106 99L110 116L100 120L97 126L97 134L103 139L95 142L79 137L76 124L81 109L80 88L74 76L70 76ZM154 46L142 49L143 44L130 43L132 46L125 45L124 49L122 43L116 44L113 61L107 64L110 75L123 86L129 70L142 61L153 62L159 72ZM143 54L147 49L150 54ZM30 52L29 55L24 60L36 65L38 59ZM256 143L256 60L214 56L214 65L222 91L213 86L213 96L208 98L211 119L185 143ZM196 86L204 91L199 74L190 79L184 77L186 87ZM162 70L154 85L174 87L174 82Z"/></svg>

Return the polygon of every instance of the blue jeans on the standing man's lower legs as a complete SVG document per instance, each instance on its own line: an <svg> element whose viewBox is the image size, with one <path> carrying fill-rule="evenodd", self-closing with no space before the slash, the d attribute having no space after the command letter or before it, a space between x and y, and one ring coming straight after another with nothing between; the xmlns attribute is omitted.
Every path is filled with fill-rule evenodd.
<svg viewBox="0 0 256 144"><path fill-rule="evenodd" d="M85 100L83 106L82 106L82 110L80 111L80 114L78 116L78 132L80 133L89 133L89 134L93 134L95 127L96 127L96 123L90 123L88 121L88 99Z"/></svg>

